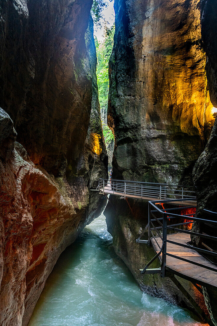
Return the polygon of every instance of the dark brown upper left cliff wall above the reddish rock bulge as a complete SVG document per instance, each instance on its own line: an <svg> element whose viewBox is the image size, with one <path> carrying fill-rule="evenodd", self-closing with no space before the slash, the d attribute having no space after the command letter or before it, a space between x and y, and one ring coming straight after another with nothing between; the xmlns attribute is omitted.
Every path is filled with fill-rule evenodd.
<svg viewBox="0 0 217 326"><path fill-rule="evenodd" d="M0 7L1 106L30 158L55 176L78 160L90 120L91 6L15 0Z"/></svg>

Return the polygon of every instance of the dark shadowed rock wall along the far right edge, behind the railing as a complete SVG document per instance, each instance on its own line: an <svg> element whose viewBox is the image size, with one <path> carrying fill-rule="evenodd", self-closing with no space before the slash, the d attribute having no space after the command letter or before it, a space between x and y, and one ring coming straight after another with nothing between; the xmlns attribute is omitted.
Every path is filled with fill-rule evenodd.
<svg viewBox="0 0 217 326"><path fill-rule="evenodd" d="M202 1L201 4L201 29L204 50L207 54L206 71L207 80L210 90L210 98L215 107L217 107L217 2ZM197 217L207 218L217 221L215 215L207 215L203 209L216 212L216 189L217 189L217 121L215 119L214 126L211 131L210 139L205 150L198 158L194 170L193 180L197 195ZM206 233L216 236L216 229L207 228L206 225L195 225L195 228L205 230ZM203 239L203 242L205 240ZM197 243L198 244L198 243ZM216 243L209 244L212 248L216 248ZM204 248L204 247L203 247ZM206 249L206 248L205 248ZM216 300L217 291L210 288L203 288L206 305L210 312L210 316L215 325L217 325Z"/></svg>

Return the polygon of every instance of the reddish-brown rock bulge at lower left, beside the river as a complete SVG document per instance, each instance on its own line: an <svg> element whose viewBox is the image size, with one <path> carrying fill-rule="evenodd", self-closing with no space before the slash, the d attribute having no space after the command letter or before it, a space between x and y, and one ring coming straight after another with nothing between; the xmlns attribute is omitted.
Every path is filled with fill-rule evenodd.
<svg viewBox="0 0 217 326"><path fill-rule="evenodd" d="M25 297L32 292L33 308L58 253L73 240L70 233L79 227L79 219L76 206L65 202L54 180L15 149L7 162L0 162L0 178L0 320L2 325L21 325ZM63 237L64 224L71 229Z"/></svg>

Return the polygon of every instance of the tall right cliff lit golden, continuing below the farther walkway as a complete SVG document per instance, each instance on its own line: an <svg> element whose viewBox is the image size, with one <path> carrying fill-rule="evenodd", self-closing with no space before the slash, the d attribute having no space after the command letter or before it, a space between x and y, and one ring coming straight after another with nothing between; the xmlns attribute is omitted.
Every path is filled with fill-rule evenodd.
<svg viewBox="0 0 217 326"><path fill-rule="evenodd" d="M191 185L214 122L200 1L115 0L114 7L108 101L115 135L112 177ZM142 289L190 307L168 280L139 274L153 257L152 249L135 243L148 222L147 207L139 200L128 203L110 196L105 210L117 254ZM204 306L190 283L182 284Z"/></svg>

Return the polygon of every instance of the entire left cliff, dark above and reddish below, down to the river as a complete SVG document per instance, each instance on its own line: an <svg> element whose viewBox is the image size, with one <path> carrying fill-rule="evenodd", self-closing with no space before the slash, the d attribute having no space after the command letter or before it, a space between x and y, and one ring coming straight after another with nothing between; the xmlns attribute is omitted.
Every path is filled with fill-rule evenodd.
<svg viewBox="0 0 217 326"><path fill-rule="evenodd" d="M105 205L90 191L108 176L91 6L0 5L2 325L27 325L60 253Z"/></svg>

